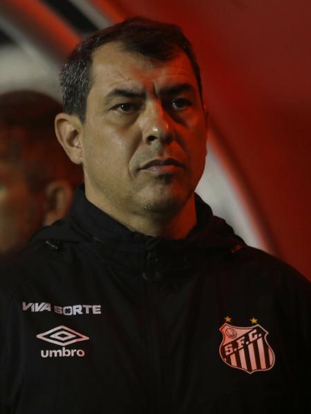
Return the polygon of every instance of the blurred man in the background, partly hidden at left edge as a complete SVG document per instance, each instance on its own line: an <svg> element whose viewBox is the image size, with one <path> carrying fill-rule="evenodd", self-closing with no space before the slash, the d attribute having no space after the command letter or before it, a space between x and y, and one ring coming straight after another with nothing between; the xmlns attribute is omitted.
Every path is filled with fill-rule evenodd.
<svg viewBox="0 0 311 414"><path fill-rule="evenodd" d="M32 90L0 95L0 255L16 253L39 227L66 215L82 180L55 138L62 107Z"/></svg>

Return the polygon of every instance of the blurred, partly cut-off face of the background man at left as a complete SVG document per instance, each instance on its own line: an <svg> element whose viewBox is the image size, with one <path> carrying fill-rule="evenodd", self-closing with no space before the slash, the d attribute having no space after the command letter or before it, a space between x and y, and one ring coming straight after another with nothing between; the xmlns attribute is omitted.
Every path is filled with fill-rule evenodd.
<svg viewBox="0 0 311 414"><path fill-rule="evenodd" d="M36 200L23 173L0 159L0 255L23 246L37 230L37 219Z"/></svg>

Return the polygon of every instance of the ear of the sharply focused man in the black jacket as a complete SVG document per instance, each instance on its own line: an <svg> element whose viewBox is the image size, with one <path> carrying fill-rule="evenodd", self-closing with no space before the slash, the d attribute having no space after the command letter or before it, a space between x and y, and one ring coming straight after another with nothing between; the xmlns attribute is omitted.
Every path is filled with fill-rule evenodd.
<svg viewBox="0 0 311 414"><path fill-rule="evenodd" d="M55 117L55 133L59 144L74 164L82 164L82 122L77 115L61 112Z"/></svg>

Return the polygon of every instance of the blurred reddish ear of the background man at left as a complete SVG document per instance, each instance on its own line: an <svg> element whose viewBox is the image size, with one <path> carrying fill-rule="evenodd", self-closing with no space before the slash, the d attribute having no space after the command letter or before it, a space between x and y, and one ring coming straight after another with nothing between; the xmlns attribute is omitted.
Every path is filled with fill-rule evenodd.
<svg viewBox="0 0 311 414"><path fill-rule="evenodd" d="M42 226L49 226L64 217L73 201L73 188L66 179L50 182L44 189L44 215Z"/></svg>

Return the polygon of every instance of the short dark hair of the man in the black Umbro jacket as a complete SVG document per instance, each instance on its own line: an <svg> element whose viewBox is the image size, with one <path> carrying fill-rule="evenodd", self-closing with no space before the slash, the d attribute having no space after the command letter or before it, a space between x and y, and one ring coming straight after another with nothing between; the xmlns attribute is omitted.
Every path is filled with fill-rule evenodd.
<svg viewBox="0 0 311 414"><path fill-rule="evenodd" d="M185 52L194 69L202 99L200 68L191 43L182 30L171 23L133 17L95 32L79 43L67 57L60 74L64 112L78 115L84 122L86 99L92 86L93 53L100 46L112 41L122 43L122 47L128 52L136 52L159 61L169 61L179 52Z"/></svg>

